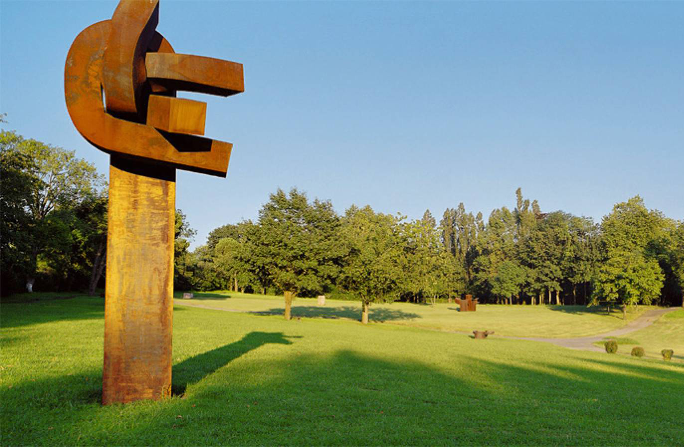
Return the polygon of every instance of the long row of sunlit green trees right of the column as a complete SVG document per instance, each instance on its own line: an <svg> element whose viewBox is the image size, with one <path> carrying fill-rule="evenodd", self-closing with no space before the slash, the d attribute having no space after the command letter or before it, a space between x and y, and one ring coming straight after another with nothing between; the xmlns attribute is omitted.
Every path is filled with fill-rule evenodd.
<svg viewBox="0 0 684 447"><path fill-rule="evenodd" d="M541 211L520 188L512 209L485 221L460 203L439 222L350 207L278 190L259 218L218 227L189 253L196 290L328 294L429 303L473 294L486 303L679 304L684 223L649 210L639 196L618 203L600 225Z"/></svg>

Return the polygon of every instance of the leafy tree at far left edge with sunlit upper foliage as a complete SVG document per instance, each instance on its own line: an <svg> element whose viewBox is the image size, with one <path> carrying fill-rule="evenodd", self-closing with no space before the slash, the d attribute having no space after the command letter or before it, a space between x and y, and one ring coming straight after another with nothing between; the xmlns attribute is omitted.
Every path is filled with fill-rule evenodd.
<svg viewBox="0 0 684 447"><path fill-rule="evenodd" d="M8 214L2 255L16 260L8 266L10 274L24 277L31 291L40 271L59 264L56 257L67 251L66 246L73 242L70 236L80 236L68 224L73 210L94 201L104 181L92 164L75 157L73 151L13 131L0 131L0 152L3 213Z"/></svg>

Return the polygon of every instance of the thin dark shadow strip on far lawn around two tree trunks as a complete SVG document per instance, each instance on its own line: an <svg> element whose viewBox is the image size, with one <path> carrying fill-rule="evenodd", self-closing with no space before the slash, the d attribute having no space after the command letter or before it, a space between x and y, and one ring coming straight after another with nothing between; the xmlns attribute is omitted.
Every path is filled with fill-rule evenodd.
<svg viewBox="0 0 684 447"><path fill-rule="evenodd" d="M252 315L282 315L285 311L282 307L268 309L265 311L253 311ZM319 307L319 306L292 306L292 318L345 318L349 320L361 319L361 308L354 306L340 306L340 307ZM422 318L419 314L412 312L404 312L398 309L387 309L386 307L369 307L369 320L371 322L397 321L397 320L411 320L413 318Z"/></svg>

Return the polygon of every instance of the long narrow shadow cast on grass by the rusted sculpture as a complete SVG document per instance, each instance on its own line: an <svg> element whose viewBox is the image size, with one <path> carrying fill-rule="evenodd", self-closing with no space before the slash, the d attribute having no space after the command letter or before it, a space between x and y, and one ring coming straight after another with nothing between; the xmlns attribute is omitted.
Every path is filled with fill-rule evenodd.
<svg viewBox="0 0 684 447"><path fill-rule="evenodd" d="M231 361L265 344L292 344L290 339L302 338L282 332L250 332L237 342L190 357L173 366L171 394L185 394L187 385L194 385Z"/></svg>

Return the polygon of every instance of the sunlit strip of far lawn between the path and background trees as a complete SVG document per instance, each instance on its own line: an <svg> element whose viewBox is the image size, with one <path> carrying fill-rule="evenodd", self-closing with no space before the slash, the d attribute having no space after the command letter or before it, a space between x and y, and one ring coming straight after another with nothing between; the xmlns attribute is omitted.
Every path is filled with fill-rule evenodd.
<svg viewBox="0 0 684 447"><path fill-rule="evenodd" d="M176 298L182 296L177 293ZM195 298L179 299L177 303L201 305L218 309L252 312L257 315L282 315L285 307L282 296L241 294L237 292L196 292ZM495 331L497 335L517 337L584 337L599 335L623 327L629 320L641 315L648 307L627 313L585 306L526 306L478 305L475 312L459 312L458 305L437 303L373 304L370 318L376 322L402 324L438 331L471 333L475 329ZM292 303L292 315L308 318L347 318L360 320L361 305L356 301L326 300L319 307L312 298L297 298Z"/></svg>

